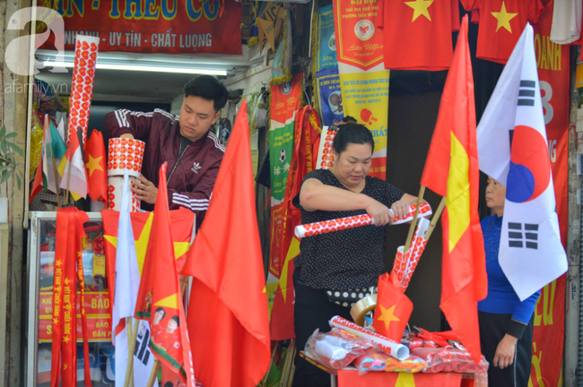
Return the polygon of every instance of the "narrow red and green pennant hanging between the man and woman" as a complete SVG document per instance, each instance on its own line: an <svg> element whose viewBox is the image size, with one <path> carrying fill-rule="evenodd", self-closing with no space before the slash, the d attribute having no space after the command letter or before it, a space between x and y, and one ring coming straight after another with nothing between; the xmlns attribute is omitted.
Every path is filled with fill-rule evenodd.
<svg viewBox="0 0 583 387"><path fill-rule="evenodd" d="M284 239L283 199L290 168L292 168L294 123L296 114L300 110L302 76L302 73L298 73L293 76L292 82L271 87L271 124L269 126L271 241L266 285L270 314L285 262L285 257L280 253Z"/></svg>

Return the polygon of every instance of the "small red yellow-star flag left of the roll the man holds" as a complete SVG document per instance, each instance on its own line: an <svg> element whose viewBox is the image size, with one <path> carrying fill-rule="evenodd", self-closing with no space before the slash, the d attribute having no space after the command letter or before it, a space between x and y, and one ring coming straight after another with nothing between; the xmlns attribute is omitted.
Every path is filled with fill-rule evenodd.
<svg viewBox="0 0 583 387"><path fill-rule="evenodd" d="M105 142L103 135L93 129L85 148L85 167L89 180L88 194L94 202L103 202L108 206L108 168L106 167Z"/></svg>

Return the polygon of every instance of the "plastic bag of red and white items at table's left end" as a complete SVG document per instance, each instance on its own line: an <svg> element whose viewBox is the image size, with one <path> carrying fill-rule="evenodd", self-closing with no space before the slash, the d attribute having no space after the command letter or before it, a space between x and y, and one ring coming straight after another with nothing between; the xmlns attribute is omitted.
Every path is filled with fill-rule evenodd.
<svg viewBox="0 0 583 387"><path fill-rule="evenodd" d="M314 331L306 343L305 352L321 365L338 370L350 365L355 358L369 354L374 348L372 343L351 332L334 328L327 333Z"/></svg>

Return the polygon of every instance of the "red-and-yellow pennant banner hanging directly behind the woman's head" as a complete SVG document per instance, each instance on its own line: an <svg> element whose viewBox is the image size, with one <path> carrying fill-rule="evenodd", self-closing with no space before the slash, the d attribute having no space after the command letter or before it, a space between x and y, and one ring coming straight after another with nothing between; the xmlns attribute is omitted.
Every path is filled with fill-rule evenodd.
<svg viewBox="0 0 583 387"><path fill-rule="evenodd" d="M378 5L353 3L333 1L344 116L369 128L375 140L369 175L385 180L389 73L383 64L383 31L377 28L382 14Z"/></svg>

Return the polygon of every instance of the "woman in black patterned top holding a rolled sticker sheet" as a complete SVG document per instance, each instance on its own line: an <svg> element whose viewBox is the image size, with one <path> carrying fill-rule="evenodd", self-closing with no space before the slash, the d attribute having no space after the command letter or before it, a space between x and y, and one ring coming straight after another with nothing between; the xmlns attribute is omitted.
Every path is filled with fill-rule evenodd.
<svg viewBox="0 0 583 387"><path fill-rule="evenodd" d="M351 319L349 301L376 287L385 269L387 224L404 216L417 198L368 176L374 139L363 125L342 125L334 140L335 165L304 179L293 204L303 224L369 213L375 226L350 228L301 240L295 258L295 333L299 350L316 330L329 331L334 315ZM389 211L389 208L394 211ZM330 385L328 374L296 358L296 387Z"/></svg>

